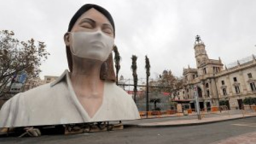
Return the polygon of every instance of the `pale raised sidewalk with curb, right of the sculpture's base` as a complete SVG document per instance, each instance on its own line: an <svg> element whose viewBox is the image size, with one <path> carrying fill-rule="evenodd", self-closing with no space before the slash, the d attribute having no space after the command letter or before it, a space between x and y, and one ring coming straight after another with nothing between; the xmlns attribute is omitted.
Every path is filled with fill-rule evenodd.
<svg viewBox="0 0 256 144"><path fill-rule="evenodd" d="M198 119L167 119L167 118L154 118L149 122L148 119L138 119L135 121L124 121L123 124L126 127L171 127L171 126L188 126L188 125L199 125L207 123L217 123L223 121L230 121L232 119L240 119L246 117L254 117L256 113L250 114L235 114L235 115L223 115L220 117L207 117Z"/></svg>

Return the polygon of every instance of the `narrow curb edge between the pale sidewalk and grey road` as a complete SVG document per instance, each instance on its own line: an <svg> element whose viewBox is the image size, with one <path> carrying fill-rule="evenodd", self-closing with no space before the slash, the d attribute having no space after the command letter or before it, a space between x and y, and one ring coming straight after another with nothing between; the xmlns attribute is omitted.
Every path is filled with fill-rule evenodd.
<svg viewBox="0 0 256 144"><path fill-rule="evenodd" d="M229 118L229 119L221 119L217 121L210 121L210 122L202 122L202 123L185 123L185 124L166 124L166 125L141 125L141 124L124 124L125 128L130 127L138 127L138 128L154 128L154 127L179 127L179 126L193 126L193 125L203 125L203 124L211 124L211 123L218 123L218 122L226 122L226 121L232 121L236 119L243 119L243 118L250 118L250 117L256 117L254 116L246 116L246 117L236 117L236 118Z"/></svg>

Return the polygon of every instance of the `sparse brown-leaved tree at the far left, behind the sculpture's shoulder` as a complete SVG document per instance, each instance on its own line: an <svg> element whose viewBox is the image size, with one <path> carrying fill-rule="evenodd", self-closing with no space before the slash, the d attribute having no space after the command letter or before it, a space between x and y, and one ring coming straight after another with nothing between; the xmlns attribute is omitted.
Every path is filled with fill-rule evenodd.
<svg viewBox="0 0 256 144"><path fill-rule="evenodd" d="M13 31L0 31L0 97L9 90L13 77L21 71L28 77L37 77L41 72L39 66L49 55L44 42L36 43L33 38L24 42L13 36Z"/></svg>

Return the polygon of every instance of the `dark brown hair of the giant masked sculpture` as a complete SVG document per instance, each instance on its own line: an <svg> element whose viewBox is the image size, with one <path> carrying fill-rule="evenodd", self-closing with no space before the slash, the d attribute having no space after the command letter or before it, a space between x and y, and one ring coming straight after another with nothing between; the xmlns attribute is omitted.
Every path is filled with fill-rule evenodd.
<svg viewBox="0 0 256 144"><path fill-rule="evenodd" d="M95 9L102 13L110 22L111 26L113 27L114 30L114 37L115 37L115 23L113 18L111 17L111 14L104 9L103 7L95 4L85 4L83 5L71 18L69 25L68 25L68 32L71 31L71 29L74 27L76 21L78 20L79 17L86 11L90 9ZM68 67L70 72L73 70L73 61L72 61L72 55L71 51L68 46L66 46L66 53L67 53L67 59L68 59ZM101 71L100 71L100 78L103 80L108 80L108 81L114 81L115 82L115 72L114 72L114 62L113 62L113 55L112 53L109 55L108 59L103 62L101 66Z"/></svg>

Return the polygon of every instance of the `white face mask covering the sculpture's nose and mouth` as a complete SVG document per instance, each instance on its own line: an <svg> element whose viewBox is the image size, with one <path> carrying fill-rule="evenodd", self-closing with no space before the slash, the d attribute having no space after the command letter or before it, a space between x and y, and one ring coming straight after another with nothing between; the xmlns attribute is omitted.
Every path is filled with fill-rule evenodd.
<svg viewBox="0 0 256 144"><path fill-rule="evenodd" d="M101 30L95 32L75 32L72 35L71 52L80 58L106 61L114 46L114 38L103 34Z"/></svg>

